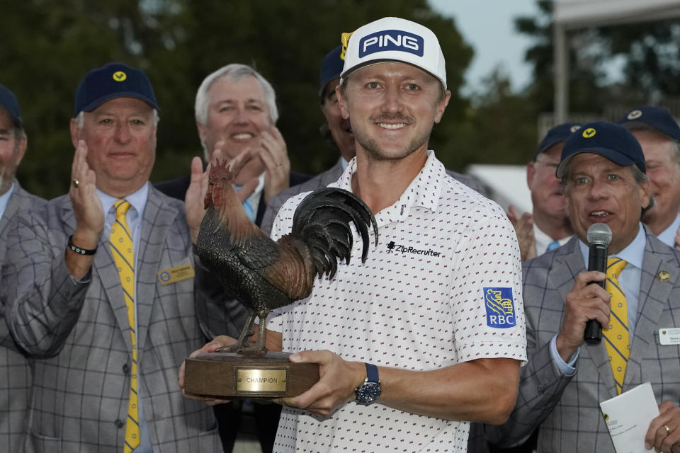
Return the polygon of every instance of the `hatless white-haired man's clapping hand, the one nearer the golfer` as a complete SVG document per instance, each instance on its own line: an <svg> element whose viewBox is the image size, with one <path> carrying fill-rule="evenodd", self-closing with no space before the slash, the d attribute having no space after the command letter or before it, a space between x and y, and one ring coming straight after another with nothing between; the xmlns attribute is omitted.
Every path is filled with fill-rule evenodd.
<svg viewBox="0 0 680 453"><path fill-rule="evenodd" d="M290 160L285 147L283 135L276 126L271 132L262 132L262 149L260 159L264 163L266 175L264 177L264 202L269 204L271 199L281 190L290 185Z"/></svg>

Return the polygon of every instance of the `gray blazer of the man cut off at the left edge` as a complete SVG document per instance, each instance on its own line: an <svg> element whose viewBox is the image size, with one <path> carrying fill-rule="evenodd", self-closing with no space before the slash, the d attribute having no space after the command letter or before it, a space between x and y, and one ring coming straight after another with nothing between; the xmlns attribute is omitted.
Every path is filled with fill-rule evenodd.
<svg viewBox="0 0 680 453"><path fill-rule="evenodd" d="M0 266L5 262L6 239L10 219L17 211L31 206L42 207L45 200L30 195L14 180L14 190L5 212L0 217ZM1 281L1 280L0 280ZM4 286L4 284L0 285ZM0 310L4 300L0 298ZM0 313L1 316L1 313ZM20 452L26 435L28 400L30 398L28 361L12 340L7 324L0 322L0 445L8 452Z"/></svg>

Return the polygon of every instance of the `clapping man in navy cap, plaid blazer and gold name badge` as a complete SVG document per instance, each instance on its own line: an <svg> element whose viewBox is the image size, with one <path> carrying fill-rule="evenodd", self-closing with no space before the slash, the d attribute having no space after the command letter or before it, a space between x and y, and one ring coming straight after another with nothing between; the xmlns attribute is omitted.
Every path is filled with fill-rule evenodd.
<svg viewBox="0 0 680 453"><path fill-rule="evenodd" d="M222 451L214 414L183 398L174 372L208 319L229 324L193 256L202 212L186 207L205 175L194 168L186 205L149 184L157 110L142 70L85 74L69 193L8 229L0 297L33 370L26 451Z"/></svg>

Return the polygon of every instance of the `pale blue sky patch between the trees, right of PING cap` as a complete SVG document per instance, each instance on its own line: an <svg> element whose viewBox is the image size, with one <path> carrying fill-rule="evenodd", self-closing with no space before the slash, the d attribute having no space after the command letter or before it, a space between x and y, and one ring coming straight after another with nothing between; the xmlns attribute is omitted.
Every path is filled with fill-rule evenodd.
<svg viewBox="0 0 680 453"><path fill-rule="evenodd" d="M524 52L531 39L514 29L516 16L536 16L536 0L429 0L443 16L455 18L465 41L475 49L475 56L465 74L463 93L482 86L482 79L500 67L509 75L514 89L526 86L531 66L524 62Z"/></svg>

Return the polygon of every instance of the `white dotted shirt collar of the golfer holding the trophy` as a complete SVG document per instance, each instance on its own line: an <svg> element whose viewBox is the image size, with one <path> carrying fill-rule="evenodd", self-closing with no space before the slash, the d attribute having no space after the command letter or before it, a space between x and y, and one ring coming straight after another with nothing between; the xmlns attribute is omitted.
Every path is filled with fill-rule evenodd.
<svg viewBox="0 0 680 453"><path fill-rule="evenodd" d="M356 156L349 161L347 168L336 187L352 192L352 176L356 172ZM436 211L443 185L443 178L446 176L446 169L438 161L431 149L427 151L427 160L421 171L411 181L404 193L394 205L386 207L385 210L397 210L399 217L406 216L412 207L419 206Z"/></svg>

